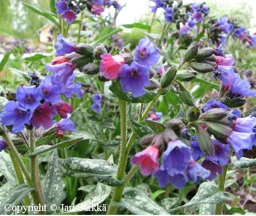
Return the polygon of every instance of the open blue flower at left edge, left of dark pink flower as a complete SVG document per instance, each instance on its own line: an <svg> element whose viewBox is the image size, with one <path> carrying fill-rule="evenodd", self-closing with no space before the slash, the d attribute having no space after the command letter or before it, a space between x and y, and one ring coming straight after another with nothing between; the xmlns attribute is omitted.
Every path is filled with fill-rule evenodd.
<svg viewBox="0 0 256 216"><path fill-rule="evenodd" d="M19 133L24 130L25 124L30 125L30 118L32 112L28 112L27 109L20 107L18 101L9 101L0 113L1 121L3 125L13 125L13 132Z"/></svg>

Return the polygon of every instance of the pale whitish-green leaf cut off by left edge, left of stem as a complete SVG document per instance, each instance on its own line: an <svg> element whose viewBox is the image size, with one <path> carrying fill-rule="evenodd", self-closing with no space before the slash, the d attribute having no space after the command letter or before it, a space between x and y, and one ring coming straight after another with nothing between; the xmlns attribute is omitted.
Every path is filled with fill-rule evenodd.
<svg viewBox="0 0 256 216"><path fill-rule="evenodd" d="M8 181L16 181L16 174L13 168L13 163L11 163L10 155L1 151L0 153L0 171L6 177Z"/></svg>

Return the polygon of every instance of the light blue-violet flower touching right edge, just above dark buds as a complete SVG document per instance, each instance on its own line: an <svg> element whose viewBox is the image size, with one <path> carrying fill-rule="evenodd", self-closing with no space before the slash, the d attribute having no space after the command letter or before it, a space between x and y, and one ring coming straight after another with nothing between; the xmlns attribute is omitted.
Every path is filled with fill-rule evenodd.
<svg viewBox="0 0 256 216"><path fill-rule="evenodd" d="M247 81L247 78L241 80L240 75L234 73L232 81L229 86L229 91L233 95L239 95L240 97L256 96L256 91L250 91L251 85Z"/></svg>

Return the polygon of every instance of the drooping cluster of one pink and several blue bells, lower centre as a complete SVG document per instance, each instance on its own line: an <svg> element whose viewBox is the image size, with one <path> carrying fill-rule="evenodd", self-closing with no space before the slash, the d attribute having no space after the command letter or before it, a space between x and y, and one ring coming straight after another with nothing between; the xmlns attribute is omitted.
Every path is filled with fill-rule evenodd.
<svg viewBox="0 0 256 216"><path fill-rule="evenodd" d="M152 173L152 177L158 177L158 184L163 188L168 182L175 188L182 188L189 180L197 184L200 179L207 179L210 171L200 166L192 158L191 147L172 133L171 129L166 129L164 133L155 135L150 146L135 154L131 158L131 163L141 165L142 175ZM158 159L161 154L162 164L159 167Z"/></svg>

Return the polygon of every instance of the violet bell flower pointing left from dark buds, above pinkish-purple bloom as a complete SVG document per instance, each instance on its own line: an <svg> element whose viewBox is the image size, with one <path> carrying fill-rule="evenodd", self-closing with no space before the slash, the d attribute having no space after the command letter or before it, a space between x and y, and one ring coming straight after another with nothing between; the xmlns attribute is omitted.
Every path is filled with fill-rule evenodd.
<svg viewBox="0 0 256 216"><path fill-rule="evenodd" d="M58 56L76 52L77 50L76 45L72 41L65 39L63 35L57 36L57 42L54 45L54 48L56 49L56 53Z"/></svg>

